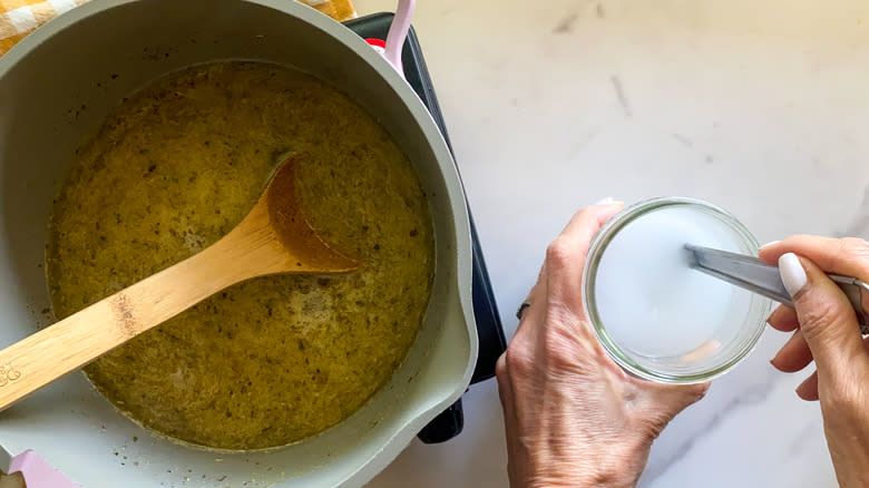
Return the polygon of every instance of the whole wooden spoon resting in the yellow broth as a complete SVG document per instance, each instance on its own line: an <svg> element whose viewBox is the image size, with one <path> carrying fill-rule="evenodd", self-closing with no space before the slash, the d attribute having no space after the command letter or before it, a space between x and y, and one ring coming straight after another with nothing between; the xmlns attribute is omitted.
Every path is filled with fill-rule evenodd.
<svg viewBox="0 0 869 488"><path fill-rule="evenodd" d="M302 215L294 163L281 164L251 213L211 247L0 351L0 410L235 283L357 270Z"/></svg>

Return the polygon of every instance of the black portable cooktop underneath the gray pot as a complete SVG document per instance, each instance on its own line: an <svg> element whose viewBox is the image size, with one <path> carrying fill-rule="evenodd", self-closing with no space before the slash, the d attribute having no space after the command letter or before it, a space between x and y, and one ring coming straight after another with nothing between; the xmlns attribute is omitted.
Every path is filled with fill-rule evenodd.
<svg viewBox="0 0 869 488"><path fill-rule="evenodd" d="M363 39L385 40L391 22L392 13L375 13L344 22L344 26ZM447 141L447 146L449 146L455 159L456 154L452 152L452 145L447 135L447 127L443 124L443 116L438 106L438 98L434 96L434 87L426 67L426 60L422 58L419 39L412 27L410 32L408 32L408 39L404 41L401 62L404 68L404 78L422 103L426 104L429 113L431 113L431 117L437 123L441 134L443 134L443 139ZM470 208L468 208L468 215L470 216ZM470 218L470 231L473 247L473 315L480 342L477 367L473 370L471 383L477 383L495 375L495 362L507 348L507 341L504 339L504 329L501 328L500 315L498 315L498 306L495 304L489 273L486 271L486 261L482 258L482 251L480 250L472 216ZM458 436L463 424L465 418L461 409L461 399L459 399L449 409L429 422L419 432L418 437L426 443L443 442Z"/></svg>

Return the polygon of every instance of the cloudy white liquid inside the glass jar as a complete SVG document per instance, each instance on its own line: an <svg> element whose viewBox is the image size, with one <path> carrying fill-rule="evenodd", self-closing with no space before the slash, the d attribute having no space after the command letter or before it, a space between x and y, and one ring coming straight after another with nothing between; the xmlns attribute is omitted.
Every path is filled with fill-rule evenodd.
<svg viewBox="0 0 869 488"><path fill-rule="evenodd" d="M603 251L597 312L613 342L637 362L702 361L738 335L750 294L691 267L686 243L745 253L725 222L667 206L622 227Z"/></svg>

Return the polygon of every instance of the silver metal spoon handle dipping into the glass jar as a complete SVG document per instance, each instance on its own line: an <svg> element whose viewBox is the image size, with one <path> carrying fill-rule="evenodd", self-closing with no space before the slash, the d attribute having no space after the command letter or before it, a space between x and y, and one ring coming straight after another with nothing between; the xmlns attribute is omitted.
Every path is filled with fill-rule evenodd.
<svg viewBox="0 0 869 488"><path fill-rule="evenodd" d="M729 253L726 251L686 244L696 269L742 289L767 296L779 303L793 306L791 296L781 281L777 266L770 266L754 256ZM869 303L869 285L862 281L838 274L828 274L848 296L855 312L860 332L869 334L869 312L863 303ZM863 300L866 297L866 300Z"/></svg>

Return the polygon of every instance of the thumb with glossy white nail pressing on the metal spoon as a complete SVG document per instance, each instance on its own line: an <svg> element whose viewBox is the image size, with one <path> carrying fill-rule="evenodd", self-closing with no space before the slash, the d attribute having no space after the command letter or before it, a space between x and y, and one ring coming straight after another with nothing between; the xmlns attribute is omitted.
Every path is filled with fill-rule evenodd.
<svg viewBox="0 0 869 488"><path fill-rule="evenodd" d="M821 269L788 253L779 257L779 272L821 377L834 378L866 355L851 303Z"/></svg>

